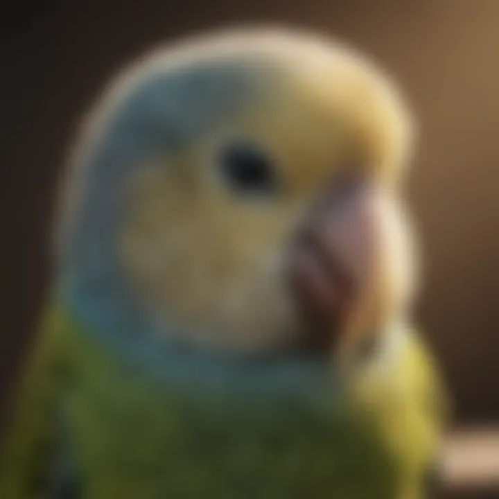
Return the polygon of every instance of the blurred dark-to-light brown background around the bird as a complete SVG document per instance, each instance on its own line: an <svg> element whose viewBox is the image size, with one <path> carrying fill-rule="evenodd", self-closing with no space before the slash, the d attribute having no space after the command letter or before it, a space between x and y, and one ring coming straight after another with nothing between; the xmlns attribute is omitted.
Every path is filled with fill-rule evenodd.
<svg viewBox="0 0 499 499"><path fill-rule="evenodd" d="M0 30L0 401L47 288L64 148L100 85L155 42L272 21L345 37L405 87L421 119L409 193L426 248L421 322L457 419L499 421L498 0L67 0L24 12L14 5Z"/></svg>

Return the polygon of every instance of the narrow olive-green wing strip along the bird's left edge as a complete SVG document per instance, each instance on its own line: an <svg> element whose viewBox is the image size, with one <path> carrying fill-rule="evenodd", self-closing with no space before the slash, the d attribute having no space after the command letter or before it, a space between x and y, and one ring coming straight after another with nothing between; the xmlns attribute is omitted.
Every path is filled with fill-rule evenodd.
<svg viewBox="0 0 499 499"><path fill-rule="evenodd" d="M60 311L47 308L35 344L28 352L1 453L1 498L42 498L42 492L49 487L49 464L57 431L53 419L58 384L64 378L67 360L63 351L64 326Z"/></svg>

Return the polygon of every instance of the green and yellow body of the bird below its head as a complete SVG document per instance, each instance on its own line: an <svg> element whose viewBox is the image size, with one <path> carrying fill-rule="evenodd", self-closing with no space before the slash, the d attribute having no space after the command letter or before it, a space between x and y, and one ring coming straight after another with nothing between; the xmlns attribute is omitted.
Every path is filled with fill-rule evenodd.
<svg viewBox="0 0 499 499"><path fill-rule="evenodd" d="M62 307L45 325L24 378L2 497L426 493L441 414L425 412L425 398L439 393L408 331L394 333L392 362L380 356L348 385L314 363L241 365L180 351L165 364L157 344L116 351Z"/></svg>

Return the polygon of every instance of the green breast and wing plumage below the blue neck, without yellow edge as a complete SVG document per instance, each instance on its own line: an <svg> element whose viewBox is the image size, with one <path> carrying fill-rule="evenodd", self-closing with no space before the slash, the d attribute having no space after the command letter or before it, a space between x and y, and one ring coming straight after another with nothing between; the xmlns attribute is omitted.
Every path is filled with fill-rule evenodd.
<svg viewBox="0 0 499 499"><path fill-rule="evenodd" d="M1 498L52 499L61 424L82 498L399 497L403 460L369 423L376 418L358 417L332 388L320 401L186 389L107 349L57 308L28 367Z"/></svg>

